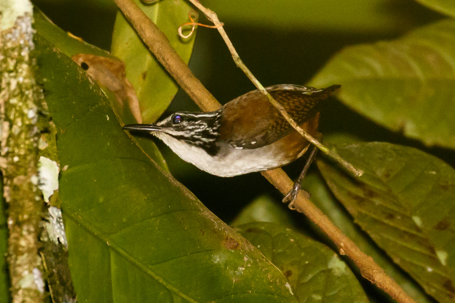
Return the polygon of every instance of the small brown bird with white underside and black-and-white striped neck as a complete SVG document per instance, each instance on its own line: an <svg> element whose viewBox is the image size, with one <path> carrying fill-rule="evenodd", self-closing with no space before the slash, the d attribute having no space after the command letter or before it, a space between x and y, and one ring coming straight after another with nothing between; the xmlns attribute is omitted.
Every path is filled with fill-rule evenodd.
<svg viewBox="0 0 455 303"><path fill-rule="evenodd" d="M322 101L340 86L316 89L278 84L265 90L309 135L321 137L317 127ZM284 166L301 157L310 146L259 90L237 97L215 111L176 112L154 124L129 124L123 129L152 134L181 159L219 177ZM308 157L306 170L315 151L313 148ZM305 168L284 200L297 197Z"/></svg>

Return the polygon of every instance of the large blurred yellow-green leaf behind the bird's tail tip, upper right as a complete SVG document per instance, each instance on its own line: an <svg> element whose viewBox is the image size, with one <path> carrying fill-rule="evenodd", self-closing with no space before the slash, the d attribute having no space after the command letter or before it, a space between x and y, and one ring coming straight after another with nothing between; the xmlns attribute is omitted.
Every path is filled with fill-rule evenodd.
<svg viewBox="0 0 455 303"><path fill-rule="evenodd" d="M428 146L455 148L455 20L400 39L348 47L310 85L342 84L338 97L377 123Z"/></svg>

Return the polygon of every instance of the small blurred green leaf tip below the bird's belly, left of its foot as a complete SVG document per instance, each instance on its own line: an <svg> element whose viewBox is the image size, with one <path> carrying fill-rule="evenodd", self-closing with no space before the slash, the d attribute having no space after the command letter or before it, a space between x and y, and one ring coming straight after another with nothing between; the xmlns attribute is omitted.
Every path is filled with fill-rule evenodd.
<svg viewBox="0 0 455 303"><path fill-rule="evenodd" d="M285 207L287 208L286 205L278 204L277 201L274 201L269 196L260 196L242 209L231 225L269 222L293 228L293 219Z"/></svg>

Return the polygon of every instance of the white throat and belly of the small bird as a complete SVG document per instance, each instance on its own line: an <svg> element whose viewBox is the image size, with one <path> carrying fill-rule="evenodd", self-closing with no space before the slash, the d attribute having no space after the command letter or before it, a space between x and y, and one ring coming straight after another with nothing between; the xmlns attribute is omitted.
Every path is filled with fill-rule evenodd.
<svg viewBox="0 0 455 303"><path fill-rule="evenodd" d="M236 149L225 144L225 146L221 147L219 155L213 157L203 149L184 144L171 136L162 133L156 133L155 136L161 139L184 161L190 162L199 169L219 177L234 177L253 171L272 169L286 165L294 160L280 157L270 145L257 149ZM225 149L229 149L229 152L226 152ZM300 155L303 152L304 150Z"/></svg>

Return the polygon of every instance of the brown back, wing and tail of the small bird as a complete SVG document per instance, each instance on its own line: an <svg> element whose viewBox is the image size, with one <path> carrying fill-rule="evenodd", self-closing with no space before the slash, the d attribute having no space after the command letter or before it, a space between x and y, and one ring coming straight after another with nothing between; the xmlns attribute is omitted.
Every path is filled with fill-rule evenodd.
<svg viewBox="0 0 455 303"><path fill-rule="evenodd" d="M301 125L319 112L319 104L340 85L326 89L291 84L266 88ZM242 95L223 106L220 141L234 147L255 149L274 143L292 132L292 126L258 90Z"/></svg>

